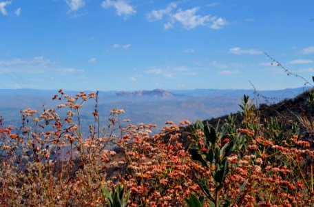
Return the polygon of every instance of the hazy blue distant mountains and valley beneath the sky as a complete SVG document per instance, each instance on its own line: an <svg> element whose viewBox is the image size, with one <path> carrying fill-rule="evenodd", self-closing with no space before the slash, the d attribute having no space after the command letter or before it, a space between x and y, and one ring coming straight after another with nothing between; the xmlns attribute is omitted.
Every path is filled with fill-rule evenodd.
<svg viewBox="0 0 314 207"><path fill-rule="evenodd" d="M161 128L165 121L178 123L183 119L211 119L240 110L238 104L243 95L255 98L257 103L278 103L296 97L309 88L285 90L138 90L138 91L101 91L98 97L98 110L101 123L105 126L112 108L123 108L123 119L131 119L133 124L157 124ZM65 91L76 95L77 91ZM19 111L25 108L42 111L55 107L60 101L52 101L56 90L2 89L0 90L0 115L4 124L20 126ZM94 101L88 101L81 110L81 120L88 127L93 123Z"/></svg>

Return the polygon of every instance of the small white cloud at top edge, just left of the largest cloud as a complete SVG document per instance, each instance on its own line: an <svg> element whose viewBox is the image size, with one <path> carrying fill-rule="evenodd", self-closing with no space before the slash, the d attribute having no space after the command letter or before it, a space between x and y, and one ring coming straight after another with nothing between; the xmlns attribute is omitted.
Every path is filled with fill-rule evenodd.
<svg viewBox="0 0 314 207"><path fill-rule="evenodd" d="M105 0L103 1L103 3L101 3L101 6L103 8L110 8L110 7L116 8L116 13L119 16L128 17L132 14L136 14L136 10L131 5L129 5L128 1L126 0L116 0L116 1Z"/></svg>

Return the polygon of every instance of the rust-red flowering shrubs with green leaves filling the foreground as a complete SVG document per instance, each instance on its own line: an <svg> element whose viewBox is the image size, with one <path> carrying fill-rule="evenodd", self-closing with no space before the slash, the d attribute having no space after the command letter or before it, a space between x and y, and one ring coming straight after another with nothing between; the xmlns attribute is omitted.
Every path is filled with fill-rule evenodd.
<svg viewBox="0 0 314 207"><path fill-rule="evenodd" d="M249 97L240 124L167 121L156 132L121 120L123 110L102 127L97 96L59 90L56 109L21 111L21 128L1 124L1 205L313 206L313 141L297 123L261 123ZM88 99L95 121L83 135Z"/></svg>

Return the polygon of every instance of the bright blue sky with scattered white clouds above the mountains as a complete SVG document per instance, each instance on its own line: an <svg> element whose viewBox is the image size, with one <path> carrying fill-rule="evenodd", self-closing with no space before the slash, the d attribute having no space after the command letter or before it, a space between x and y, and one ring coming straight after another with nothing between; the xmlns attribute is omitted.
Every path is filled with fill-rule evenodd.
<svg viewBox="0 0 314 207"><path fill-rule="evenodd" d="M0 88L296 88L314 1L0 0Z"/></svg>

